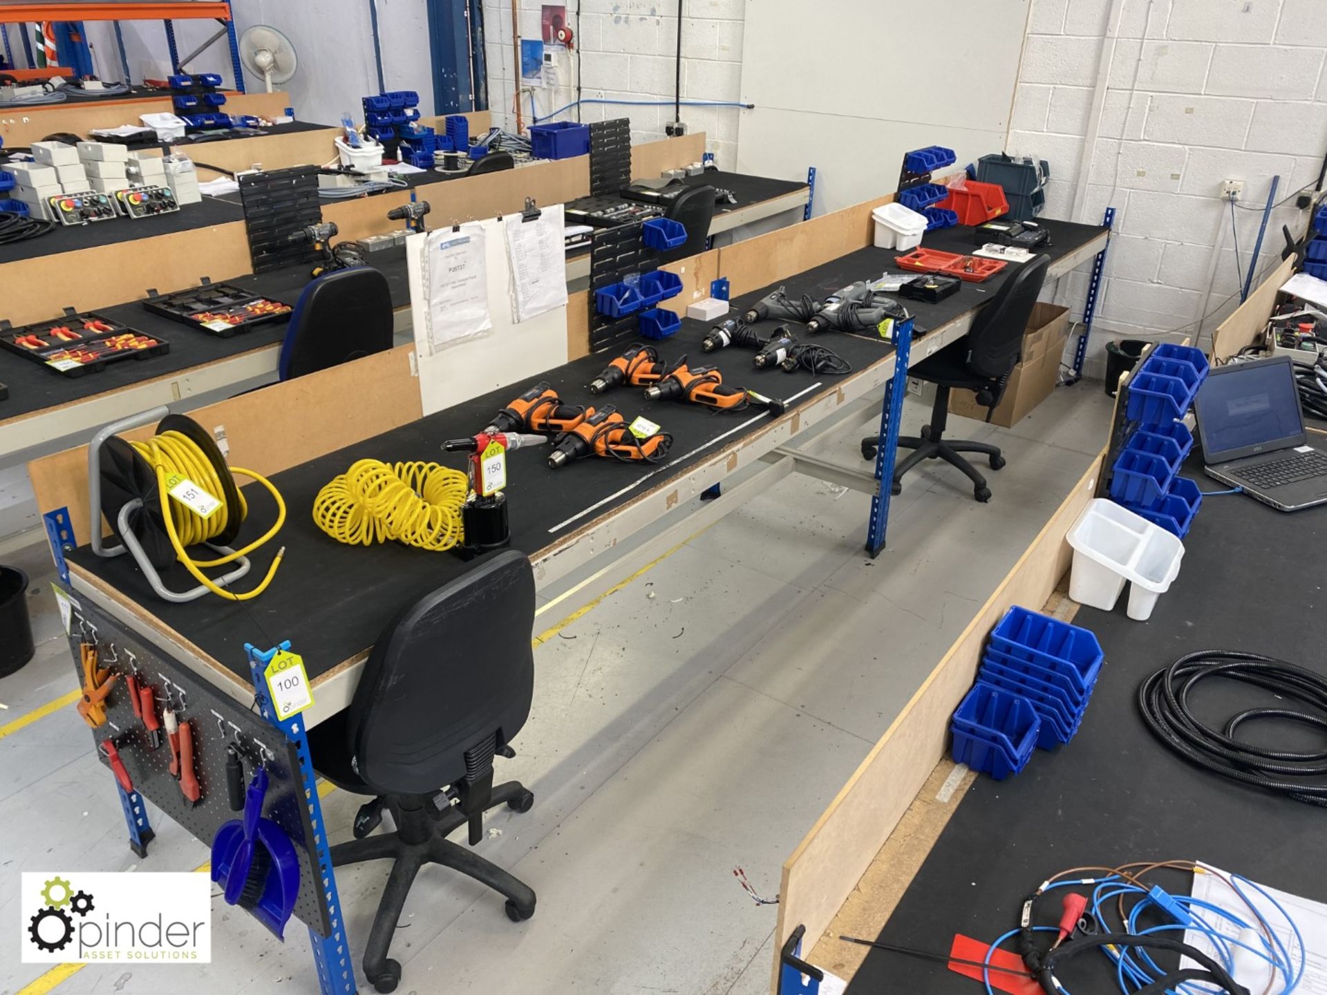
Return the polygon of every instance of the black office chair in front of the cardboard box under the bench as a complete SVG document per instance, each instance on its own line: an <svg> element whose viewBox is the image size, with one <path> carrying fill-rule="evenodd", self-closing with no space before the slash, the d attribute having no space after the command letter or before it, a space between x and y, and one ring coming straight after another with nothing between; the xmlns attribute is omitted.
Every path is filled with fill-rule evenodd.
<svg viewBox="0 0 1327 995"><path fill-rule="evenodd" d="M973 482L973 496L977 500L991 499L986 478L959 454L985 454L991 470L1003 467L1005 458L998 446L945 438L949 391L951 389L974 391L977 403L989 409L986 418L990 421L990 411L994 411L1005 397L1009 374L1018 365L1023 332L1027 330L1036 296L1042 292L1047 263L1046 256L1040 256L1010 273L990 304L977 312L966 336L934 356L928 356L908 371L910 377L936 385L936 405L932 407L930 425L922 426L920 438L908 435L898 439L900 446L913 451L894 467L892 494L902 494L904 474L924 459L938 458L967 475ZM874 459L878 442L877 435L863 439L861 455L865 459Z"/></svg>

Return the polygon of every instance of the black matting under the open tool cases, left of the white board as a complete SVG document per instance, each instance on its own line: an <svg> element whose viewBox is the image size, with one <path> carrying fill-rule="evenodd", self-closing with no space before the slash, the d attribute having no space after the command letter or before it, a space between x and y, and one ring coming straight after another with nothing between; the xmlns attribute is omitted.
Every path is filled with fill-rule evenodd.
<svg viewBox="0 0 1327 995"><path fill-rule="evenodd" d="M384 256L385 259L380 259ZM391 288L391 302L397 308L410 304L410 287L406 280L405 249L384 249L373 255L373 264L381 269ZM207 273L199 273L206 276ZM226 283L252 288L256 293L285 301L291 306L300 298L300 292L311 280L309 267L288 267L285 269L253 276L240 276ZM126 287L126 293L130 291ZM146 287L139 293L146 297ZM52 301L50 316L60 314L61 301ZM0 304L3 310L3 304ZM131 304L118 304L111 308L98 308L109 317L125 322L130 328L159 337L170 342L170 353L141 362L122 362L107 366L101 373L93 373L77 379L60 377L21 356L0 354L0 382L9 385L9 399L0 401L0 419L37 411L70 401L81 401L107 390L126 387L145 379L165 377L192 366L227 360L239 353L247 353L264 345L280 342L285 337L287 321L273 321L259 325L252 332L244 332L232 338L219 338L180 321L153 314L142 305L142 300ZM0 314L0 317L4 317Z"/></svg>

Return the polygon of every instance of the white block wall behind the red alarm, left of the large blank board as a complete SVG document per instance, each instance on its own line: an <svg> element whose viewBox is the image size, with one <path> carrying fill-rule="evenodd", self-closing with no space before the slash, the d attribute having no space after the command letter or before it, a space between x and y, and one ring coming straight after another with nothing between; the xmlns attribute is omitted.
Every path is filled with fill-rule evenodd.
<svg viewBox="0 0 1327 995"><path fill-rule="evenodd" d="M520 36L539 38L541 0L515 1ZM511 3L484 0L484 41L494 123L514 130L512 93L518 73ZM567 3L567 20L573 29L576 3ZM632 119L632 141L664 138L664 126L674 113L677 9L677 0L581 0L576 38L581 97L650 105L585 103L579 115L572 109L556 119L592 122L626 117ZM743 0L683 0L682 13L682 100L740 101ZM565 85L533 92L540 118L576 100L576 58L561 56ZM528 90L520 94L520 101L522 119L528 126ZM682 121L691 131L706 133L707 149L723 168L736 162L738 113L736 107L682 106Z"/></svg>

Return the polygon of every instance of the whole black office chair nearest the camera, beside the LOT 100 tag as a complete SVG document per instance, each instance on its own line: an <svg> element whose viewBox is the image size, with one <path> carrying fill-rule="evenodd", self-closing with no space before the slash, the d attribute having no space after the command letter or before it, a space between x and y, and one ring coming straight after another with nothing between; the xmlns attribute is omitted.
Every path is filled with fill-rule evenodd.
<svg viewBox="0 0 1327 995"><path fill-rule="evenodd" d="M500 624L494 624L500 618ZM354 820L356 838L332 848L332 865L391 860L364 953L364 974L382 992L401 979L387 958L415 874L442 864L507 897L514 922L535 914L535 893L502 868L447 840L506 804L528 812L519 781L494 785L494 755L525 724L535 689L529 634L535 576L523 553L503 551L399 613L382 631L350 707L309 730L313 767L338 788L376 795ZM369 836L391 812L395 830Z"/></svg>

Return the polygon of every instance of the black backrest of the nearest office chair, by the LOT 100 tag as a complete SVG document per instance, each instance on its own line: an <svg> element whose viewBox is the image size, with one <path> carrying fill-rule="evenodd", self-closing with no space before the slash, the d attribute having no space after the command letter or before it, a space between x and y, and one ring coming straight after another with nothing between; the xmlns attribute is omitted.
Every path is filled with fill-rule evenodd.
<svg viewBox="0 0 1327 995"><path fill-rule="evenodd" d="M466 754L483 754L490 738L502 750L529 715L533 626L535 574L514 549L389 622L346 716L364 783L380 795L431 795L459 783Z"/></svg>

